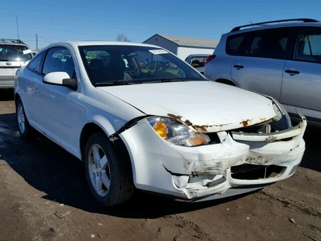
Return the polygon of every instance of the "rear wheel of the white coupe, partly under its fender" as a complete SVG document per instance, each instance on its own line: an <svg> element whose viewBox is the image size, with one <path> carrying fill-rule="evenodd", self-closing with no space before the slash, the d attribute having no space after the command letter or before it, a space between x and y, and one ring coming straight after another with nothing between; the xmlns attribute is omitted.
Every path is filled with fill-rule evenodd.
<svg viewBox="0 0 321 241"><path fill-rule="evenodd" d="M30 126L24 105L20 98L16 100L16 116L18 123L18 131L22 138L31 139L34 137L34 129Z"/></svg>

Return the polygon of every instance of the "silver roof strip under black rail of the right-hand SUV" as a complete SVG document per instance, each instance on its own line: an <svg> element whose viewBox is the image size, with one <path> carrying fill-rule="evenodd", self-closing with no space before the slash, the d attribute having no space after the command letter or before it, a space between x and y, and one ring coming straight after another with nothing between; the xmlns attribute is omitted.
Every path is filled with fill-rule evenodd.
<svg viewBox="0 0 321 241"><path fill-rule="evenodd" d="M241 29L237 31L231 31L227 33L227 35L244 33L244 32L251 32L256 30L263 30L263 29L273 29L273 28L286 28L286 27L321 27L321 22L293 22L293 23L282 23L282 24L267 24L263 26L248 26L246 29Z"/></svg>

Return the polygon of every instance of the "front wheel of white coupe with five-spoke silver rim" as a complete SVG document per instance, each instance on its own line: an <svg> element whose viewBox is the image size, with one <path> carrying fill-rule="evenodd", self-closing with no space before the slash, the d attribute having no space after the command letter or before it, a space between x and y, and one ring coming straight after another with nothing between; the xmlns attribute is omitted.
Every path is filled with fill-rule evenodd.
<svg viewBox="0 0 321 241"><path fill-rule="evenodd" d="M134 186L125 170L126 165L116 155L112 143L104 133L88 138L84 153L86 179L97 202L113 206L127 201Z"/></svg>

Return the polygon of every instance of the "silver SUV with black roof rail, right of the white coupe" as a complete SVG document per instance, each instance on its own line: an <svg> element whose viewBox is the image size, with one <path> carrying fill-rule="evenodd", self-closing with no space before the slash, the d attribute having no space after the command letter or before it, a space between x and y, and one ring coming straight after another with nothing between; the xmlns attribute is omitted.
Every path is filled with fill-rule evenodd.
<svg viewBox="0 0 321 241"><path fill-rule="evenodd" d="M291 22L291 23L288 23ZM287 19L235 27L222 35L205 76L277 99L321 127L321 22Z"/></svg>

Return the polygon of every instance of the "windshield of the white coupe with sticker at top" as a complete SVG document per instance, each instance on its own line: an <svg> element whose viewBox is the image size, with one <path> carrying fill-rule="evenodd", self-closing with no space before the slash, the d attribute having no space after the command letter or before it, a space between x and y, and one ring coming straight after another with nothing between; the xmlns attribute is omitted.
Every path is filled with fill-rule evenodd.
<svg viewBox="0 0 321 241"><path fill-rule="evenodd" d="M166 50L142 46L81 46L82 60L94 85L206 80Z"/></svg>

